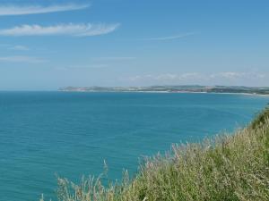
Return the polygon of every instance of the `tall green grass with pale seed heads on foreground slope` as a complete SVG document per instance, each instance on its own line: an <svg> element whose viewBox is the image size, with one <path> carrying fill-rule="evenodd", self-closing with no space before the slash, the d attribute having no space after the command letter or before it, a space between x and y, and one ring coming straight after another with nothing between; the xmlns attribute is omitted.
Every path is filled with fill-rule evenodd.
<svg viewBox="0 0 269 201"><path fill-rule="evenodd" d="M147 158L132 180L127 172L123 178L106 187L101 177L80 184L58 178L58 200L269 200L269 109L233 135L174 145Z"/></svg>

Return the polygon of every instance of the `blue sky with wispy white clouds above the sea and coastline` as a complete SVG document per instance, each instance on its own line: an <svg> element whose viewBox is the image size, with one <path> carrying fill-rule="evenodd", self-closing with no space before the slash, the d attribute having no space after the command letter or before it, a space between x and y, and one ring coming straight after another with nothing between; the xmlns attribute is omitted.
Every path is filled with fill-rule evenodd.
<svg viewBox="0 0 269 201"><path fill-rule="evenodd" d="M0 90L269 86L268 0L0 0Z"/></svg>

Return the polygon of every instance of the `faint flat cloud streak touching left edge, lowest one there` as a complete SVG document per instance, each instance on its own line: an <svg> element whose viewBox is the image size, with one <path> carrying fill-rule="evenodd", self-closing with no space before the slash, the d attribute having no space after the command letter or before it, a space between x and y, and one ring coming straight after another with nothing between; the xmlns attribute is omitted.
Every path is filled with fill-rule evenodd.
<svg viewBox="0 0 269 201"><path fill-rule="evenodd" d="M31 56L4 56L0 57L0 63L46 63L47 60Z"/></svg>

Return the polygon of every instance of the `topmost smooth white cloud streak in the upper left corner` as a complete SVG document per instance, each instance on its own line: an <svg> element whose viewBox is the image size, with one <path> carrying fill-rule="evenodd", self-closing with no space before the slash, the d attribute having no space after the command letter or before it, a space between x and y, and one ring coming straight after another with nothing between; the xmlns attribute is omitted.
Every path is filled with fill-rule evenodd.
<svg viewBox="0 0 269 201"><path fill-rule="evenodd" d="M17 4L0 5L0 16L66 12L86 9L90 6L91 4L54 4L48 6Z"/></svg>

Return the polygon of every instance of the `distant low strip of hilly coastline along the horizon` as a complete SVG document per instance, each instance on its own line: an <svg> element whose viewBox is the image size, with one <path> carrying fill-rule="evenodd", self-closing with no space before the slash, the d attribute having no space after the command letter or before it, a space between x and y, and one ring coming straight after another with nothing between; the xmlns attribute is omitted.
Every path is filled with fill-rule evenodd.
<svg viewBox="0 0 269 201"><path fill-rule="evenodd" d="M76 91L76 92L170 92L170 93L241 93L241 94L257 94L269 95L269 87L238 87L238 86L198 86L198 85L182 85L182 86L151 86L151 87L67 87L59 88L59 91Z"/></svg>

